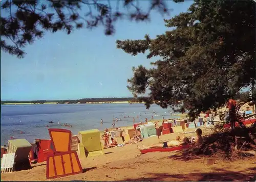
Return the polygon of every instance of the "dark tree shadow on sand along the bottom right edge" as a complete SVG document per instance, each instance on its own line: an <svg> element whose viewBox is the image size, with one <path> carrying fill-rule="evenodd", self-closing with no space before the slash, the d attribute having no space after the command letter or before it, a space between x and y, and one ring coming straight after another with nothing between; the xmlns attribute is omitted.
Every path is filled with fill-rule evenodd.
<svg viewBox="0 0 256 182"><path fill-rule="evenodd" d="M255 181L256 172L254 168L248 169L248 171L251 170L249 174L244 174L245 171L234 172L219 168L214 170L214 172L209 173L197 171L188 174L146 173L145 176L150 177L143 177L142 175L140 178L126 178L122 181Z"/></svg>

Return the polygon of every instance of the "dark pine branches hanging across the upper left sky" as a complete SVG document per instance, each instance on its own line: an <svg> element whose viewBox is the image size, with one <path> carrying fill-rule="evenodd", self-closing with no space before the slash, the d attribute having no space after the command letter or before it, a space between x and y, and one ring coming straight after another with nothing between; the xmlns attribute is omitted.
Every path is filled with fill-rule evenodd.
<svg viewBox="0 0 256 182"><path fill-rule="evenodd" d="M112 7L113 3L116 4L115 8ZM127 12L119 10L121 6ZM88 29L103 25L105 35L112 35L116 21L123 17L144 21L150 18L153 9L168 13L163 1L154 0L150 2L147 11L141 10L139 0L3 0L0 18L1 49L22 58L25 54L22 48L42 38L45 31L54 33L62 30L70 34L75 29L83 28L84 24ZM3 16L3 12L8 12L8 15Z"/></svg>

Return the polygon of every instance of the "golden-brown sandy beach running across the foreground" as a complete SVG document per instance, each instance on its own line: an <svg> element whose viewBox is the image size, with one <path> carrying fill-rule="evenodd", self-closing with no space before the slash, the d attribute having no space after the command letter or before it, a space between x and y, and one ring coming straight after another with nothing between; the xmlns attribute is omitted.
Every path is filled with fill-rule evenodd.
<svg viewBox="0 0 256 182"><path fill-rule="evenodd" d="M202 127L203 134L211 129ZM193 131L193 129L188 129ZM224 161L216 159L214 165L207 166L207 157L184 159L179 152L151 152L141 154L137 145L156 144L164 140L174 140L175 133L144 139L138 144L127 144L122 147L104 149L105 154L86 159L79 159L83 168L82 174L51 179L53 181L89 180L251 180L256 175L255 158L243 161ZM194 134L185 134L192 136ZM243 165L241 165L241 162ZM33 164L29 170L2 174L4 181L46 181L46 162ZM49 179L50 180L50 179ZM49 181L48 180L48 181Z"/></svg>

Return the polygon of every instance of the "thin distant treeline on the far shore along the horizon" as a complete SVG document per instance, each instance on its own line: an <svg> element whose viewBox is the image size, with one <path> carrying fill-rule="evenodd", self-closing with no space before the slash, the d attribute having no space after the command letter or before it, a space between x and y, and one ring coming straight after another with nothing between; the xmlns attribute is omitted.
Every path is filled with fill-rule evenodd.
<svg viewBox="0 0 256 182"><path fill-rule="evenodd" d="M109 98L82 98L77 100L5 100L1 101L1 104L5 103L34 103L34 104L43 104L46 102L56 102L56 103L87 103L87 102L114 102L114 101L130 101L136 102L137 100L134 97L109 97Z"/></svg>

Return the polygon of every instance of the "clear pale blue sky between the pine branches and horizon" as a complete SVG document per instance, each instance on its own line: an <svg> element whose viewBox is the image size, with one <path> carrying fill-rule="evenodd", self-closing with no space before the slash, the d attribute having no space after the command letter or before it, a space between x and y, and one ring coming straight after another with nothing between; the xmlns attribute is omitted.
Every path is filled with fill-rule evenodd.
<svg viewBox="0 0 256 182"><path fill-rule="evenodd" d="M132 97L126 88L132 67L142 64L148 68L159 58L126 54L116 48L116 40L163 34L170 30L163 19L186 12L193 1L167 3L173 9L169 16L152 12L151 22L118 21L113 36L105 36L103 27L75 30L70 35L46 32L24 49L27 55L23 59L1 50L1 100ZM141 1L140 5L150 3Z"/></svg>

